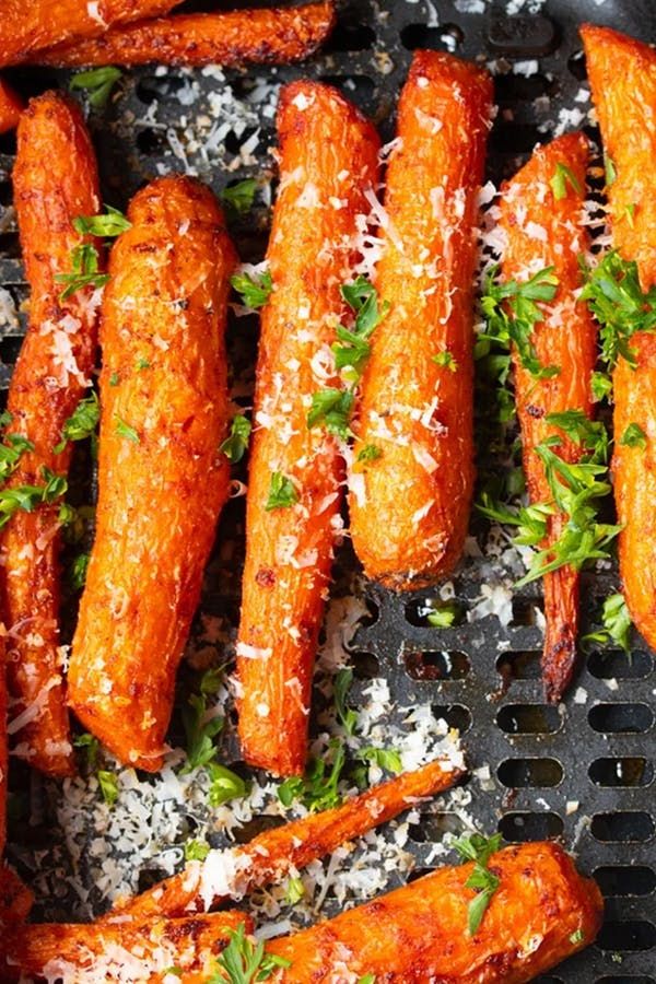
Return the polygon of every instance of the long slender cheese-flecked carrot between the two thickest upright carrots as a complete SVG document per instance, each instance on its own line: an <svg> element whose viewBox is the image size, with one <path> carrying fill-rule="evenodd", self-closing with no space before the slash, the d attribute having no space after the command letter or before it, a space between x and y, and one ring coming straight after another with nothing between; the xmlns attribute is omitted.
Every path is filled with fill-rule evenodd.
<svg viewBox="0 0 656 984"><path fill-rule="evenodd" d="M278 110L280 194L267 259L246 503L237 667L239 738L251 765L303 772L317 635L340 530L338 440L308 425L315 393L339 385L329 345L352 280L358 213L377 177L378 137L337 90L295 82ZM285 505L269 501L273 476Z"/></svg>

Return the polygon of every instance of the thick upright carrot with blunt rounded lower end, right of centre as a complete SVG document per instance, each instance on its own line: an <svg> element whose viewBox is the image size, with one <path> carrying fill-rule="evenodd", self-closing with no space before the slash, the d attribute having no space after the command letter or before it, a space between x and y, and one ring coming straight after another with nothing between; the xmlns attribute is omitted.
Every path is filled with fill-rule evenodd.
<svg viewBox="0 0 656 984"><path fill-rule="evenodd" d="M400 97L376 274L391 311L372 337L355 426L382 454L350 481L355 552L389 588L447 573L467 532L475 224L491 101L485 71L436 51L415 52ZM444 351L455 372L433 361Z"/></svg>

